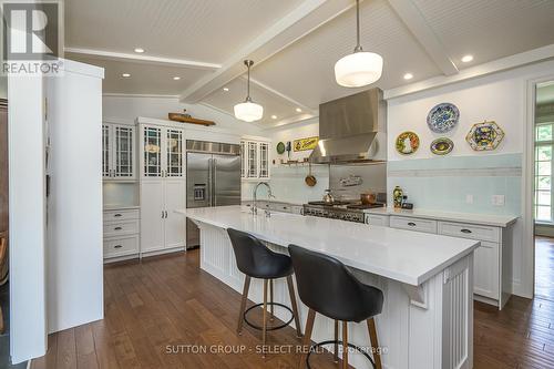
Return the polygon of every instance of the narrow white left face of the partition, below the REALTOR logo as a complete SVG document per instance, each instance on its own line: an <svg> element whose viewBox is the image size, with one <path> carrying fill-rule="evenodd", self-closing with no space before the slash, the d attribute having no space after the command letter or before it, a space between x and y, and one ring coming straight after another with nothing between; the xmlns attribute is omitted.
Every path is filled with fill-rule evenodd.
<svg viewBox="0 0 554 369"><path fill-rule="evenodd" d="M44 263L44 90L10 76L10 353L13 363L47 352Z"/></svg>

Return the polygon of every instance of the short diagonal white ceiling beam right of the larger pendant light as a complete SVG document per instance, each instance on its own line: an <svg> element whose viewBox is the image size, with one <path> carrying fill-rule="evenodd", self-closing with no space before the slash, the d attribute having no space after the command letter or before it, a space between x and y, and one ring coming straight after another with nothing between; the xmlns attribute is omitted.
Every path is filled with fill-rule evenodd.
<svg viewBox="0 0 554 369"><path fill-rule="evenodd" d="M389 0L390 6L444 75L459 72L451 55L412 0Z"/></svg>

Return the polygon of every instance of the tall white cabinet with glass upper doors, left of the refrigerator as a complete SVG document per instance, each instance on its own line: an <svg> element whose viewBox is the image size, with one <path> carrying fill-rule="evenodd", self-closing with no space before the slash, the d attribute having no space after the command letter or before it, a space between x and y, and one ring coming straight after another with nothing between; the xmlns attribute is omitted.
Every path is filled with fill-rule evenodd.
<svg viewBox="0 0 554 369"><path fill-rule="evenodd" d="M185 248L186 225L175 209L186 207L184 130L138 124L141 255Z"/></svg>

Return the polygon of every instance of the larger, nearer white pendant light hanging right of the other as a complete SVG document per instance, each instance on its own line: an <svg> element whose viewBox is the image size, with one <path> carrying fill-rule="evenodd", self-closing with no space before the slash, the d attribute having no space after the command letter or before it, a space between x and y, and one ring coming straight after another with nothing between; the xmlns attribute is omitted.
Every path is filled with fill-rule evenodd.
<svg viewBox="0 0 554 369"><path fill-rule="evenodd" d="M360 1L356 0L356 39L353 53L335 64L335 79L345 88L361 88L378 81L382 73L382 57L363 51L360 44Z"/></svg>

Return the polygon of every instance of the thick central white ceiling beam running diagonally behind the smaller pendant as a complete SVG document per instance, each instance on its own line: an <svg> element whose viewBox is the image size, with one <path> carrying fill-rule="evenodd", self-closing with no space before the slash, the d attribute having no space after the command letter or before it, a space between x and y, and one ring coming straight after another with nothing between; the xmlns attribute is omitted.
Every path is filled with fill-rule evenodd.
<svg viewBox="0 0 554 369"><path fill-rule="evenodd" d="M196 103L213 91L245 73L245 59L257 64L287 48L295 41L329 22L355 4L351 0L305 0L298 8L281 18L254 41L238 50L222 69L206 75L181 95L182 101Z"/></svg>

